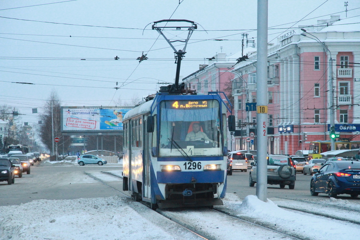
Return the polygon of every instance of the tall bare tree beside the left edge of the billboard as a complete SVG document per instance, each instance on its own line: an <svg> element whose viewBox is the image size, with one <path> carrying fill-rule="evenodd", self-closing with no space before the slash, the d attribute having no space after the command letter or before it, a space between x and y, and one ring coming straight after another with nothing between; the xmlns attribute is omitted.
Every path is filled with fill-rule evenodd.
<svg viewBox="0 0 360 240"><path fill-rule="evenodd" d="M55 152L55 145L53 149L53 131L54 137L61 136L61 126L60 126L60 106L61 101L59 95L55 90L50 93L49 99L45 102L44 113L40 115L40 139L44 145L51 150L51 153ZM71 141L69 141L70 136L64 136L63 142L64 149L68 150ZM57 154L57 153L55 153Z"/></svg>

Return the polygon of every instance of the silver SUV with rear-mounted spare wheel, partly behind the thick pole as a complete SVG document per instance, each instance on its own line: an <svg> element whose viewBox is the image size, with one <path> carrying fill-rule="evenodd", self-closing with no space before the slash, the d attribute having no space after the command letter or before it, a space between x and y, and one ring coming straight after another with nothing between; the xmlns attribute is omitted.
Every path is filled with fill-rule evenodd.
<svg viewBox="0 0 360 240"><path fill-rule="evenodd" d="M257 165L252 163L250 170L249 186L253 187L257 181ZM268 155L267 156L267 184L280 185L284 188L289 185L289 189L294 189L296 180L296 166L289 156Z"/></svg>

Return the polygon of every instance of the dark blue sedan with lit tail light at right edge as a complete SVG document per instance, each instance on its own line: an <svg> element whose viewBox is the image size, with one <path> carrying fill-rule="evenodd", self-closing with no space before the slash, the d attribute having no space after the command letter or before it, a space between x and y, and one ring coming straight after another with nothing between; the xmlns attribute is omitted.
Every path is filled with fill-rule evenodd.
<svg viewBox="0 0 360 240"><path fill-rule="evenodd" d="M314 169L314 172L310 182L312 196L325 193L330 198L334 198L338 194L350 194L352 198L357 198L360 194L360 162L358 161L331 161L325 163L319 170Z"/></svg>

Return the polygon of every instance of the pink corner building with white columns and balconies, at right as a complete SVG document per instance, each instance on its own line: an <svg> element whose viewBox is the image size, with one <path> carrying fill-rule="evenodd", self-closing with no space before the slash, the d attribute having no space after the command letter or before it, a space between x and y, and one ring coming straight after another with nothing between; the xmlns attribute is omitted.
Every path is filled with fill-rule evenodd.
<svg viewBox="0 0 360 240"><path fill-rule="evenodd" d="M360 71L356 71L360 64L353 64L360 63L359 20L359 17L340 20L339 16L331 16L319 20L316 27L299 26L307 33L291 31L279 37L278 44L269 44L269 153L295 154L297 150L309 150L310 141L329 140L330 108L335 109L335 127L340 138L360 140L357 136L360 132ZM246 105L256 103L257 56L255 50L248 55L248 61L234 67L237 74L233 80L233 95L239 131L233 145L237 150L247 149L245 130L256 123L256 111L247 112ZM334 106L329 105L330 55ZM256 136L251 143L250 148L255 150Z"/></svg>

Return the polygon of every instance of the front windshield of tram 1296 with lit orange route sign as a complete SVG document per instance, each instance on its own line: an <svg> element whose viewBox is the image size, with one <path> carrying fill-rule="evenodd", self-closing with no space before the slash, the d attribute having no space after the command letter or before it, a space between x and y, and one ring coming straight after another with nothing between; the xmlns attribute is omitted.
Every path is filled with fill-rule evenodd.
<svg viewBox="0 0 360 240"><path fill-rule="evenodd" d="M223 155L218 101L166 100L160 107L159 157Z"/></svg>

